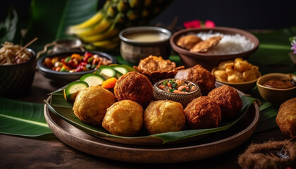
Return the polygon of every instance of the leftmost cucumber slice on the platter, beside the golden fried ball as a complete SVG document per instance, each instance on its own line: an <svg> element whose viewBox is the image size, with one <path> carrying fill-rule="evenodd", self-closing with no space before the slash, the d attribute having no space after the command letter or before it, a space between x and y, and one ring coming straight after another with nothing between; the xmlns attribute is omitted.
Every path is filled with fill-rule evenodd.
<svg viewBox="0 0 296 169"><path fill-rule="evenodd" d="M63 96L67 101L73 101L75 100L80 90L86 89L87 87L88 87L87 82L82 82L82 81L70 82L68 86L65 89L63 89Z"/></svg>

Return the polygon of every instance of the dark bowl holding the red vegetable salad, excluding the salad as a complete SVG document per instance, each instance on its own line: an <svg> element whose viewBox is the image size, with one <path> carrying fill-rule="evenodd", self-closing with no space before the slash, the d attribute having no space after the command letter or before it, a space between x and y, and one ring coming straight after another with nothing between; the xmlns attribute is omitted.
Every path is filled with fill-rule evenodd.
<svg viewBox="0 0 296 169"><path fill-rule="evenodd" d="M92 54L98 54L101 57L105 57L108 58L109 60L112 61L112 63L117 63L116 58L100 52L100 51L88 51ZM39 58L37 61L37 67L38 70L40 71L40 73L42 73L42 75L44 75L44 77L49 78L51 81L58 83L58 84L68 84L69 82L73 82L75 80L79 80L80 77L82 77L82 75L85 75L87 73L93 73L95 70L87 70L87 71L82 71L82 72L77 72L77 73L68 73L68 72L58 72L55 70L51 70L49 68L47 68L46 66L43 65L44 63L44 59L49 57L49 58L53 58L53 57L64 57L64 56L71 56L72 54L80 54L83 55L85 54L85 51L69 51L69 52L61 52L61 53L56 53L56 54L50 54L48 56L44 56L42 58Z"/></svg>

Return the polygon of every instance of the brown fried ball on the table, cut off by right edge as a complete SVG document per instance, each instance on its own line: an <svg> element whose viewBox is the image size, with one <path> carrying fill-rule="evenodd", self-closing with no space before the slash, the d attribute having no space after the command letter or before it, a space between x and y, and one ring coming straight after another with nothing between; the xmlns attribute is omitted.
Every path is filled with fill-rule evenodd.
<svg viewBox="0 0 296 169"><path fill-rule="evenodd" d="M296 97L289 99L280 105L278 115L276 115L276 124L281 132L287 137L296 139Z"/></svg>

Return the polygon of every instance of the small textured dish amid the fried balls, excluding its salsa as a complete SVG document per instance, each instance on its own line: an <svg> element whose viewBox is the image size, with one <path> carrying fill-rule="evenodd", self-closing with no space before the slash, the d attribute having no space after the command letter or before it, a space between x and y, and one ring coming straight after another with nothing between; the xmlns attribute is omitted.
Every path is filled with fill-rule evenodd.
<svg viewBox="0 0 296 169"><path fill-rule="evenodd" d="M173 79L165 79L165 80L173 80ZM187 104L189 104L193 99L196 99L199 96L202 96L201 90L199 86L193 82L190 82L188 80L185 80L186 83L191 83L193 84L196 89L192 92L188 93L171 93L171 92L166 92L163 89L159 88L159 84L163 83L165 80L160 80L159 82L156 82L153 86L153 94L154 94L154 99L156 100L171 100L171 101L176 101L182 104L182 106L185 108Z"/></svg>

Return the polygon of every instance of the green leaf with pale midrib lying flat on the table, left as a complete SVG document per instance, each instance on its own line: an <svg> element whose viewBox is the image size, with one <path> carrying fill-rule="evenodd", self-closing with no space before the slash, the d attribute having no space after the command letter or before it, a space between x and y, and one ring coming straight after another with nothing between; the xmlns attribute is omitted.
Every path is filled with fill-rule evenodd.
<svg viewBox="0 0 296 169"><path fill-rule="evenodd" d="M52 133L43 114L43 104L0 97L0 133L36 137Z"/></svg>

